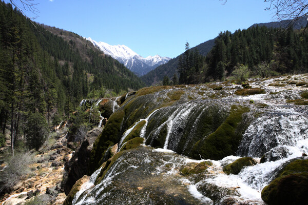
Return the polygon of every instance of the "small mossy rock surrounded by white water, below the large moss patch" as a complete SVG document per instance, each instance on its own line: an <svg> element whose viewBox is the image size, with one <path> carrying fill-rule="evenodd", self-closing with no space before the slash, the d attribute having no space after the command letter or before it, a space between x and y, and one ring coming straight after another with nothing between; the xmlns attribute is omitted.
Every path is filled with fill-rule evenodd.
<svg viewBox="0 0 308 205"><path fill-rule="evenodd" d="M238 174L246 166L257 165L257 161L252 157L242 157L235 160L233 163L229 163L223 168L223 172L226 174Z"/></svg>

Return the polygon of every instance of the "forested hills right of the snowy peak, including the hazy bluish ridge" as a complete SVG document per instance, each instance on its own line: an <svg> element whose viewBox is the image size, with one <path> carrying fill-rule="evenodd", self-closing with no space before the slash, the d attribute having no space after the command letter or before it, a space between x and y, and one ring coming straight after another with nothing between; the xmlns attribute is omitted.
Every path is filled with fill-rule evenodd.
<svg viewBox="0 0 308 205"><path fill-rule="evenodd" d="M308 71L308 32L304 29L278 29L256 25L234 33L221 32L218 37L205 43L208 44L204 48L211 50L200 63L200 69L196 70L193 58L187 59L185 51L167 64L144 75L142 80L147 85L156 85L161 83L164 76L171 78L174 73L178 73L180 84L205 83L225 79L241 66L246 67L251 76L261 74L263 77ZM211 43L214 43L213 47ZM206 54L201 45L197 46L197 49L191 48L190 52L199 51L202 55ZM183 62L179 63L180 57L181 60L186 60L184 64L189 65L184 70ZM183 73L182 76L179 71ZM191 80L181 80L183 76ZM193 76L198 76L198 79Z"/></svg>

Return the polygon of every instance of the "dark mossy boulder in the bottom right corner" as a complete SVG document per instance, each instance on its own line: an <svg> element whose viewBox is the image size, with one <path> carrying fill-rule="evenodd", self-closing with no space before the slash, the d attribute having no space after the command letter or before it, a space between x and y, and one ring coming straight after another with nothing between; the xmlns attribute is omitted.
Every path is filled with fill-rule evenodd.
<svg viewBox="0 0 308 205"><path fill-rule="evenodd" d="M308 160L295 160L285 166L280 175L266 186L262 199L269 205L304 204L308 201Z"/></svg>

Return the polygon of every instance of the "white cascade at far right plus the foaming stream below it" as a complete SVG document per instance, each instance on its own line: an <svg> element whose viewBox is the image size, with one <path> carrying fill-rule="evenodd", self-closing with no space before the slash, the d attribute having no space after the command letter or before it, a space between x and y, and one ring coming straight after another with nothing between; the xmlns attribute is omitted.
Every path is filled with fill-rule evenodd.
<svg viewBox="0 0 308 205"><path fill-rule="evenodd" d="M239 187L239 197L261 203L261 191L274 179L275 170L284 162L301 157L302 153L308 153L307 113L290 113L284 109L280 111L279 115L264 115L256 119L246 130L238 150L240 156L260 157L264 153L269 153L278 160L246 167L238 175L217 174L199 183L215 184L221 188ZM221 169L226 163L237 158L239 157L226 157L216 161L215 167Z"/></svg>

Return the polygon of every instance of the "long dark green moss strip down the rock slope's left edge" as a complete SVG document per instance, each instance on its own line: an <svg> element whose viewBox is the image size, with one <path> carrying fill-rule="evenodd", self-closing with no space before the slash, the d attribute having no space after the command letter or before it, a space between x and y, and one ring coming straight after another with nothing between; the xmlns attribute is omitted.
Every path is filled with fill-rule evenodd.
<svg viewBox="0 0 308 205"><path fill-rule="evenodd" d="M91 151L89 173L93 173L101 166L101 159L103 158L108 147L118 143L121 137L120 129L123 117L123 110L114 112L108 119L102 133L95 140Z"/></svg>

